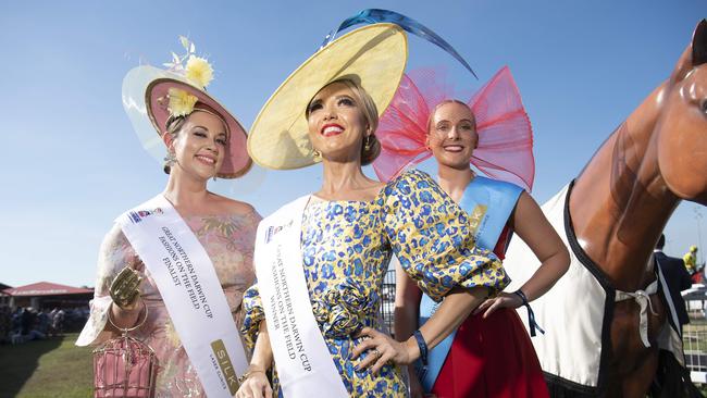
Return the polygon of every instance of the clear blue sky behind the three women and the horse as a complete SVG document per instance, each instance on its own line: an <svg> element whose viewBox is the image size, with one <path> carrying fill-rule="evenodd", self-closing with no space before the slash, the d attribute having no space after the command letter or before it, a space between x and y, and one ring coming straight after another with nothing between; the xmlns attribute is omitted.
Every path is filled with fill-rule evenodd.
<svg viewBox="0 0 707 398"><path fill-rule="evenodd" d="M161 165L141 149L121 105L129 69L169 61L181 50L177 36L187 35L216 70L210 92L250 126L325 34L364 8L424 23L481 79L417 38L409 67L444 65L459 86L474 88L510 66L534 127L541 202L668 77L707 16L704 0L1 2L0 282L92 286L112 220L163 189ZM260 171L210 188L268 214L315 190L320 173ZM707 213L678 208L668 253L697 244L696 211ZM702 236L704 244L705 219Z"/></svg>

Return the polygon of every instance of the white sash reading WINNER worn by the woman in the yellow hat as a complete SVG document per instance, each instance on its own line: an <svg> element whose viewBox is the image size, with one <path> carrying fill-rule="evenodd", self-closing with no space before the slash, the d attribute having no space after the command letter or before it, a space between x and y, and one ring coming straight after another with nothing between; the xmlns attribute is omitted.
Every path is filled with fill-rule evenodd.
<svg viewBox="0 0 707 398"><path fill-rule="evenodd" d="M260 222L256 275L283 396L348 397L319 329L302 269L299 198Z"/></svg>

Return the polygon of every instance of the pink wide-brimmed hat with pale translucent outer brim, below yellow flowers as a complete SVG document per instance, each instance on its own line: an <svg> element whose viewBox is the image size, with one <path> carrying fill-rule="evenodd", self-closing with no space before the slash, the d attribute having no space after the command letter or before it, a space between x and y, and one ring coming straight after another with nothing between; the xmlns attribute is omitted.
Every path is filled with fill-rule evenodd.
<svg viewBox="0 0 707 398"><path fill-rule="evenodd" d="M145 87L142 91L144 97L139 99L140 102L144 101L145 111L140 110L142 107L137 102L138 98L134 98L137 97L136 91L140 91L139 86ZM146 137L145 132L140 132L140 129L145 129L145 123L140 123L141 121L136 123L134 114L138 113L138 119L142 119L139 117L139 114L144 115L147 113L152 127L162 137L166 133L166 121L170 117L170 111L168 110L170 102L168 92L170 88L177 88L195 96L197 98L195 111L206 109L221 116L226 123L228 144L223 163L216 176L220 178L237 178L246 174L250 170L252 161L246 149L248 138L246 129L240 125L238 120L213 97L193 86L183 76L153 66L135 67L128 72L123 82L123 105L128 116L133 120L136 133L140 137L140 140L142 140L146 149L154 153L154 149L150 147L154 147L156 145L154 142L149 142L152 140ZM153 135L154 133L152 133L152 137L154 137ZM162 145L162 147L164 146ZM166 151L166 148L164 150Z"/></svg>

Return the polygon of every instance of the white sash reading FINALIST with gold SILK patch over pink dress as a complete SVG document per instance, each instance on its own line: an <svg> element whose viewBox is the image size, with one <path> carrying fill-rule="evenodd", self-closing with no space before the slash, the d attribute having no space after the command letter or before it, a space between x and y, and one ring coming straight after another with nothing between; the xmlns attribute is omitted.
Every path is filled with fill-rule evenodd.
<svg viewBox="0 0 707 398"><path fill-rule="evenodd" d="M248 362L203 246L162 195L115 222L157 283L207 395L233 397Z"/></svg>

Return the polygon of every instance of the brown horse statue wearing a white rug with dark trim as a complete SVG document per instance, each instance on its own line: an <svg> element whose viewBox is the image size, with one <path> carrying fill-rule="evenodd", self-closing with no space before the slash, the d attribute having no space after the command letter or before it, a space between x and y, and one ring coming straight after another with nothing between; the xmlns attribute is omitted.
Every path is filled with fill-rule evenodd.
<svg viewBox="0 0 707 398"><path fill-rule="evenodd" d="M533 344L553 396L645 397L662 343L678 343L677 361L684 361L682 340L667 328L670 303L656 291L653 260L682 200L707 206L707 20L669 78L543 206L573 258L533 302L548 332ZM529 251L511 241L505 260L511 277L532 275ZM581 277L587 279L574 282Z"/></svg>

